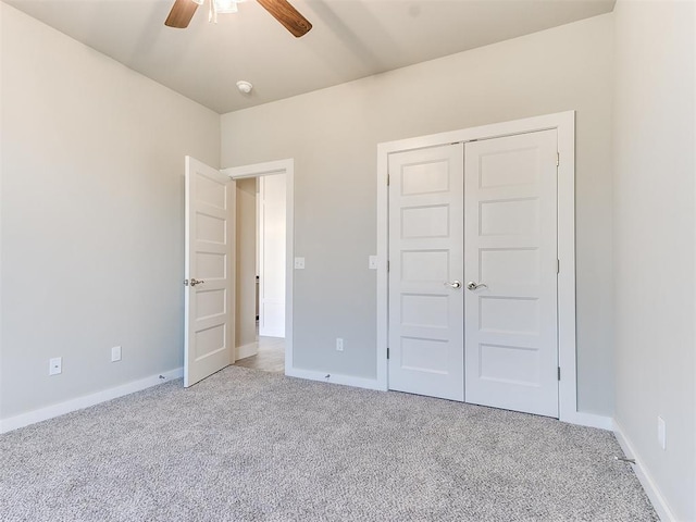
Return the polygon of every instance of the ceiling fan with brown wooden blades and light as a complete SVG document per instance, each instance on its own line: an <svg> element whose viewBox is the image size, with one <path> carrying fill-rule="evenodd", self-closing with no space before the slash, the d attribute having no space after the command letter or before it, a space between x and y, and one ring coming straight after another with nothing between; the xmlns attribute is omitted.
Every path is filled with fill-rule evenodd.
<svg viewBox="0 0 696 522"><path fill-rule="evenodd" d="M164 25L186 28L194 17L194 13L198 5L204 0L175 0L170 15L166 17ZM234 13L237 11L237 2L243 0L210 0L211 20L214 20L217 13ZM281 22L287 30L293 33L297 38L309 33L312 24L302 16L287 0L257 0L263 9Z"/></svg>

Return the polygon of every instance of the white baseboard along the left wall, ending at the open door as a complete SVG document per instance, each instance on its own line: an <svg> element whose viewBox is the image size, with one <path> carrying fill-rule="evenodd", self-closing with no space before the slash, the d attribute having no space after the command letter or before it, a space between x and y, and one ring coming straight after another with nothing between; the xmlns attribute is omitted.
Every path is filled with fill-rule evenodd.
<svg viewBox="0 0 696 522"><path fill-rule="evenodd" d="M58 405L47 406L38 410L29 411L28 413L22 413L20 415L10 417L8 419L0 420L0 433L11 432L20 427L28 426L37 422L53 419L54 417L64 415L72 411L82 410L90 406L105 402L108 400L123 397L141 389L157 386L158 384L179 378L184 375L184 369L177 368L176 370L170 370L169 372L158 373L157 375L150 375L149 377L141 378L139 381L133 381L130 383L116 386L114 388L97 391L96 394L84 395L75 399L59 402Z"/></svg>

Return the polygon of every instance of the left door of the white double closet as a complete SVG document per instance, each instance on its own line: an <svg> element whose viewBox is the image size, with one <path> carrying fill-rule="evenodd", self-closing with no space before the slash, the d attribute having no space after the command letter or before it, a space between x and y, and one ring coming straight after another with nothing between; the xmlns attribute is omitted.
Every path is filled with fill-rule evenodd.
<svg viewBox="0 0 696 522"><path fill-rule="evenodd" d="M389 388L463 400L463 147L389 156Z"/></svg>

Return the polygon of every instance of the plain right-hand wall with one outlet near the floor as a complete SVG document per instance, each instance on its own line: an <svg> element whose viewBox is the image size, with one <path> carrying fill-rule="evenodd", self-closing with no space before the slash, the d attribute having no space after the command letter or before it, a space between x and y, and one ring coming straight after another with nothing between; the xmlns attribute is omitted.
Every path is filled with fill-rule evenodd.
<svg viewBox="0 0 696 522"><path fill-rule="evenodd" d="M695 16L614 10L616 420L676 520L696 520Z"/></svg>

